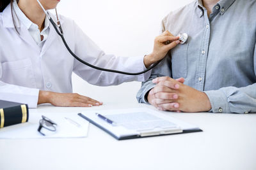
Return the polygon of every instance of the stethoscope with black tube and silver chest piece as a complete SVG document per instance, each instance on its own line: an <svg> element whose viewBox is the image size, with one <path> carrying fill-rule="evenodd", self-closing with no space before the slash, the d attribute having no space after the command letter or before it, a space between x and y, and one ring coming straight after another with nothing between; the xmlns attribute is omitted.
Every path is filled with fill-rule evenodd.
<svg viewBox="0 0 256 170"><path fill-rule="evenodd" d="M89 67L92 67L93 69L98 69L100 71L108 71L108 72L111 72L111 73L119 73L119 74L127 74L127 75L139 75L139 74L143 74L143 73L146 73L147 71L150 71L150 69L153 69L154 67L157 66L157 64L159 64L159 62L161 62L162 60L159 60L157 61L156 63L152 64L152 66L148 67L147 69L145 69L144 71L141 71L139 73L128 73L128 72L124 72L124 71L117 71L117 70L113 70L113 69L105 69L105 68L101 68L101 67L97 67L97 66L93 66L92 64L88 63L88 62L85 62L84 60L80 59L79 57L77 57L76 54L74 54L72 52L72 50L70 50L64 36L63 36L63 30L61 28L61 24L60 24L60 20L59 20L59 17L58 17L58 13L57 13L57 10L55 9L56 11L56 17L57 17L57 24L52 20L52 18L50 17L49 13L44 9L44 6L42 6L42 4L40 3L39 0L37 0L38 4L41 6L42 10L44 11L45 15L47 16L47 18L49 18L49 21L51 22L52 26L54 27L55 31L57 32L57 34L61 37L64 45L66 46L68 52L77 60L79 60L79 62L85 64L86 66L89 66ZM187 40L188 40L188 34L186 33L180 33L178 35L180 38L180 44L184 44ZM165 45L168 45L169 43L171 43L170 41L166 41L165 42Z"/></svg>

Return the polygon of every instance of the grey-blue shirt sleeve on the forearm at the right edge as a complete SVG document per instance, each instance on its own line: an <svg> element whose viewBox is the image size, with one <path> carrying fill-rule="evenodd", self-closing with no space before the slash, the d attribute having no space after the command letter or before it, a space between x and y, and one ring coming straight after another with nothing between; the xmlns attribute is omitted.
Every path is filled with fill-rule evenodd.
<svg viewBox="0 0 256 170"><path fill-rule="evenodd" d="M256 76L256 45L253 60ZM209 97L213 113L256 113L256 83L241 88L223 87L205 94Z"/></svg>

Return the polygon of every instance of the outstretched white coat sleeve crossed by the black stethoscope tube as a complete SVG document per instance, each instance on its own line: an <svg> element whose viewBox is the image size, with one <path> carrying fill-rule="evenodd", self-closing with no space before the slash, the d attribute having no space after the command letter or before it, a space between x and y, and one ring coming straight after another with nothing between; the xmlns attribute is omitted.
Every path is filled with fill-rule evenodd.
<svg viewBox="0 0 256 170"><path fill-rule="evenodd" d="M92 39L88 38L76 24L74 24L74 29L76 37L75 53L86 62L106 69L115 69L131 73L140 72L146 69L143 62L144 56L117 57L115 55L107 55L92 41ZM147 73L138 76L108 73L106 71L99 71L85 66L77 60L74 61L74 73L88 81L88 83L99 86L118 85L127 81L145 81L148 80L150 72L151 71L148 71Z"/></svg>

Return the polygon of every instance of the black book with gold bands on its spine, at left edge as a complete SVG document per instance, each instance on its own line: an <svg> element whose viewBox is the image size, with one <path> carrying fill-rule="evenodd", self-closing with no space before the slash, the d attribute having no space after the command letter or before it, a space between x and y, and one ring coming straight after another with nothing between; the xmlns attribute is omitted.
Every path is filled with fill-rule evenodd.
<svg viewBox="0 0 256 170"><path fill-rule="evenodd" d="M0 128L28 122L28 105L0 100Z"/></svg>

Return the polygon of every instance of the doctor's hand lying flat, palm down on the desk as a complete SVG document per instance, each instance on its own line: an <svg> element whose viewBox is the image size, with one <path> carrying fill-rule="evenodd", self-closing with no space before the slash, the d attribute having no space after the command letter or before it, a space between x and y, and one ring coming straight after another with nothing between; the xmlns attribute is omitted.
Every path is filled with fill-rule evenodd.
<svg viewBox="0 0 256 170"><path fill-rule="evenodd" d="M43 103L51 103L53 106L61 107L92 107L103 104L102 102L95 101L90 97L81 96L79 94L40 91L38 104Z"/></svg>

